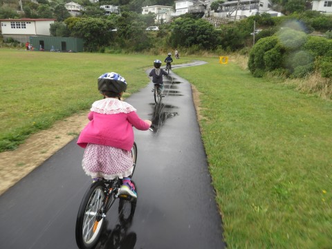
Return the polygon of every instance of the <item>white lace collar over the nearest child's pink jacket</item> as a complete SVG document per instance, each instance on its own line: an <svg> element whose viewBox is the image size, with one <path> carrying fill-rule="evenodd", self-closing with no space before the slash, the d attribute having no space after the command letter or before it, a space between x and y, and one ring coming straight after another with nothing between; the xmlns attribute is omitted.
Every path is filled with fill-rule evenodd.
<svg viewBox="0 0 332 249"><path fill-rule="evenodd" d="M98 100L92 104L90 110L102 114L130 113L131 111L136 111L131 104L116 98Z"/></svg>

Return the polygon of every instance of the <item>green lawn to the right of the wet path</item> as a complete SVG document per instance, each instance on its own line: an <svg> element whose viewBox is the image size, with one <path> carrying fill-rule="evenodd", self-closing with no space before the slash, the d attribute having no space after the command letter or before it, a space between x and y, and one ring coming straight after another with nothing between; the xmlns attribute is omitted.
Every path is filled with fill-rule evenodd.
<svg viewBox="0 0 332 249"><path fill-rule="evenodd" d="M331 248L332 102L219 58L178 68L201 132L229 248Z"/></svg>

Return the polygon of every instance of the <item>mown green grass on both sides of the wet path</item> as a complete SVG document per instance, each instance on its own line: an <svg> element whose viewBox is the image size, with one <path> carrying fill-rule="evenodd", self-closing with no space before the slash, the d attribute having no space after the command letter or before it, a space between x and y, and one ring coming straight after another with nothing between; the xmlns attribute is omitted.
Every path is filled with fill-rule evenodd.
<svg viewBox="0 0 332 249"><path fill-rule="evenodd" d="M138 91L154 59L0 50L0 148L89 109L104 72L122 74L128 92ZM201 92L202 138L228 248L332 248L332 102L254 78L232 58L179 62L191 59L209 63L174 73Z"/></svg>

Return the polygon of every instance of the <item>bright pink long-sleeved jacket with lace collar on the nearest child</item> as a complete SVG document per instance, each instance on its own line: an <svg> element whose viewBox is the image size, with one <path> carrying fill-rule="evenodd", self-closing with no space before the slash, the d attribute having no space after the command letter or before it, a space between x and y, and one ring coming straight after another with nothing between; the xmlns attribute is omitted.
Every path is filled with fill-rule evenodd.
<svg viewBox="0 0 332 249"><path fill-rule="evenodd" d="M91 121L80 133L77 145L85 148L88 143L93 143L130 151L133 147L133 127L145 131L149 129L149 124L138 117L136 111L134 111L136 109L131 107L130 104L123 102L125 106L118 107L118 104L122 104L117 102L120 100L107 101L105 103L106 101L99 100L95 102L97 104L93 103L88 115ZM114 109L114 102L116 102L116 108L118 109ZM110 105L112 105L111 108L109 108Z"/></svg>

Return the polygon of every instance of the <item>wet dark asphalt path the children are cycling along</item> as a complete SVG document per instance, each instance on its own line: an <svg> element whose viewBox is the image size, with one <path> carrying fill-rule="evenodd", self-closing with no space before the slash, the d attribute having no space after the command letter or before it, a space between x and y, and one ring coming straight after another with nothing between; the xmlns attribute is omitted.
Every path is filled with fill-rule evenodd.
<svg viewBox="0 0 332 249"><path fill-rule="evenodd" d="M117 207L111 208L96 248L225 248L190 83L170 73L164 84L159 105L151 82L126 100L156 128L135 130L133 219L122 225ZM77 248L77 210L91 184L81 166L83 152L73 140L0 196L1 249Z"/></svg>

